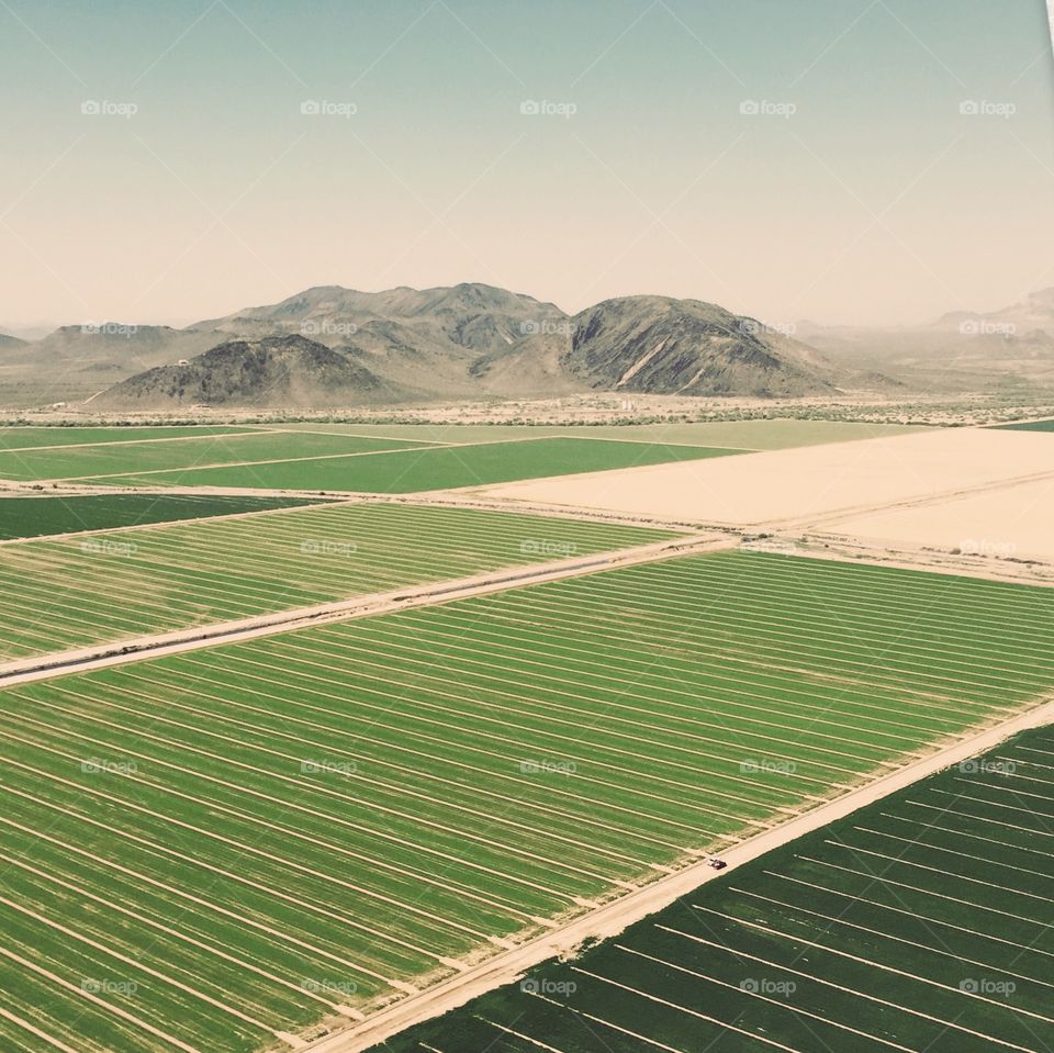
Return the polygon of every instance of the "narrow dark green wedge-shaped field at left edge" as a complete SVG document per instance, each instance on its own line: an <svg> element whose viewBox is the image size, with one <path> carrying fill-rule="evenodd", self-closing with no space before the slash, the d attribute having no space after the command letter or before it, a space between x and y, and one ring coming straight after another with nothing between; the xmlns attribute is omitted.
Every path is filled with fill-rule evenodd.
<svg viewBox="0 0 1054 1053"><path fill-rule="evenodd" d="M33 494L0 496L0 540L105 530L146 523L266 512L303 505L303 497L199 494Z"/></svg>

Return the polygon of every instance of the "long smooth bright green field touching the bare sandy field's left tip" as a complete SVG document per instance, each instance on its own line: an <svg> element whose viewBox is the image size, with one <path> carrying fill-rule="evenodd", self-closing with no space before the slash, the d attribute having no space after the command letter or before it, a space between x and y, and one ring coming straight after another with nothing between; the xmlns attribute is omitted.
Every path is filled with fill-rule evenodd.
<svg viewBox="0 0 1054 1053"><path fill-rule="evenodd" d="M306 433L304 433L306 437ZM380 441L380 440L378 440ZM397 441L397 440L396 440ZM637 468L668 461L724 457L736 450L606 439L545 438L530 441L436 446L377 457L330 457L245 468L212 468L128 477L111 482L142 485L235 486L266 490L416 493L539 479L572 472Z"/></svg>

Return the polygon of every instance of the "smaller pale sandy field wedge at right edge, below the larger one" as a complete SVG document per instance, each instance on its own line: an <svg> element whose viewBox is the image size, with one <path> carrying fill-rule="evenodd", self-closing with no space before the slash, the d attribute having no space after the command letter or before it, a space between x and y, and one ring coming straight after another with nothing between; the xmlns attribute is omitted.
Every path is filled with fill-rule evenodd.
<svg viewBox="0 0 1054 1053"><path fill-rule="evenodd" d="M965 556L1054 563L1054 475L830 525L875 547L924 545Z"/></svg>

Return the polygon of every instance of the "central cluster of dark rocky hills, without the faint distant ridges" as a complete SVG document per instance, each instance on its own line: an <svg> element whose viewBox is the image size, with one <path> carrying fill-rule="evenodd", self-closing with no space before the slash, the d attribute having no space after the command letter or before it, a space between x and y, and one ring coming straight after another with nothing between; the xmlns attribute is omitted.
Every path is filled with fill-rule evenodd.
<svg viewBox="0 0 1054 1053"><path fill-rule="evenodd" d="M93 405L377 405L590 391L776 397L888 383L755 320L664 296L568 315L479 283L379 293L325 285L178 333L172 347L184 361L172 362L173 351ZM213 346L192 357L195 340ZM154 348L152 335L136 355Z"/></svg>

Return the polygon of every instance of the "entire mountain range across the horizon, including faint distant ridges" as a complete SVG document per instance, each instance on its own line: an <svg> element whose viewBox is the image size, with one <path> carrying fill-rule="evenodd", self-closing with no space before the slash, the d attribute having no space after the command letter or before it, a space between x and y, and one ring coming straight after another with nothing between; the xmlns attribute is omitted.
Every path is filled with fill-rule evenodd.
<svg viewBox="0 0 1054 1053"><path fill-rule="evenodd" d="M181 329L103 323L34 341L0 337L0 378L46 379L56 397L99 410L965 390L975 372L996 363L1014 374L1021 360L1039 374L1054 366L1054 290L989 315L864 329L774 328L654 295L568 315L480 283L375 293L321 285Z"/></svg>

